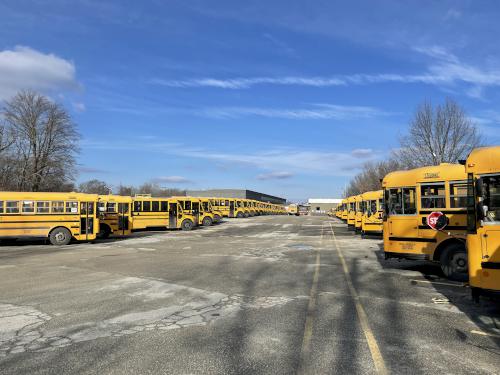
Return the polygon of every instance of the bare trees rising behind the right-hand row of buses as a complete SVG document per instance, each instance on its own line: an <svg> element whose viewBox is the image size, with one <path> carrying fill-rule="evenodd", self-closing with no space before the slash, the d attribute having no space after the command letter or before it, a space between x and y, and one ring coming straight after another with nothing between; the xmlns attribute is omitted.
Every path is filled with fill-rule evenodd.
<svg viewBox="0 0 500 375"><path fill-rule="evenodd" d="M477 126L457 102L446 99L436 106L425 102L416 109L408 133L399 140L400 147L386 160L365 164L349 182L344 196L381 189L381 180L389 172L457 163L481 142Z"/></svg>

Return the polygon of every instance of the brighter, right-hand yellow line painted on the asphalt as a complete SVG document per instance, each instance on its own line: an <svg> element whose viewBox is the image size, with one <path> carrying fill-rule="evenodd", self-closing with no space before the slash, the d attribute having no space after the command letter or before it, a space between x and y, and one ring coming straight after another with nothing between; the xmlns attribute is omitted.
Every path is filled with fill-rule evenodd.
<svg viewBox="0 0 500 375"><path fill-rule="evenodd" d="M349 294L354 300L354 304L356 306L356 312L358 313L358 319L361 324L361 329L365 334L366 341L368 343L368 347L370 349L370 353L373 359L373 363L375 364L375 370L378 374L388 374L387 367L384 362L384 358L382 357L382 353L380 352L377 339L373 334L373 331L370 328L370 324L368 322L368 316L366 315L365 309L361 304L361 300L359 298L358 292L356 288L354 288L354 284L352 283L351 275L349 274L349 267L347 267L347 263L345 261L344 255L342 254L342 250L340 250L340 246L337 242L337 237L335 237L335 232L333 231L333 226L330 223L330 230L332 231L333 243L335 244L335 249L340 258L340 263L342 264L342 269L344 270L345 278L347 281L347 286L349 289Z"/></svg>

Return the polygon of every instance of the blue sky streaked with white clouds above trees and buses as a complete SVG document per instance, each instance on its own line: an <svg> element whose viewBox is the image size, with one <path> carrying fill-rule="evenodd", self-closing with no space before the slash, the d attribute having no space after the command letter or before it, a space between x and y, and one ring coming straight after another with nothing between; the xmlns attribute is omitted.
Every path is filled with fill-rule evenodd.
<svg viewBox="0 0 500 375"><path fill-rule="evenodd" d="M112 185L338 197L447 96L500 141L500 5L346 3L4 0L0 99L62 102Z"/></svg>

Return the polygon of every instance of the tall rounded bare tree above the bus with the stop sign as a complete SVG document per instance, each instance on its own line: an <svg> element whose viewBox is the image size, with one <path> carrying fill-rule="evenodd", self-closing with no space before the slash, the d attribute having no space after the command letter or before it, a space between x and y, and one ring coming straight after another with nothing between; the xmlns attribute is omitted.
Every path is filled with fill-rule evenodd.
<svg viewBox="0 0 500 375"><path fill-rule="evenodd" d="M452 99L433 107L421 104L410 122L408 135L400 140L394 157L406 168L456 163L481 144L476 125Z"/></svg>

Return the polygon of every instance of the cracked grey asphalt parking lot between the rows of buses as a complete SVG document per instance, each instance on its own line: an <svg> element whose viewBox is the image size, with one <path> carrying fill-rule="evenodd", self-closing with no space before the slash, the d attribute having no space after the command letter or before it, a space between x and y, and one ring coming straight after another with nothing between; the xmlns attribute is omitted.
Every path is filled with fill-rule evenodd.
<svg viewBox="0 0 500 375"><path fill-rule="evenodd" d="M500 303L326 217L0 247L1 374L492 374Z"/></svg>

